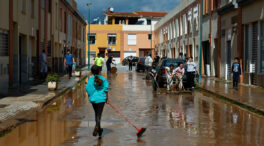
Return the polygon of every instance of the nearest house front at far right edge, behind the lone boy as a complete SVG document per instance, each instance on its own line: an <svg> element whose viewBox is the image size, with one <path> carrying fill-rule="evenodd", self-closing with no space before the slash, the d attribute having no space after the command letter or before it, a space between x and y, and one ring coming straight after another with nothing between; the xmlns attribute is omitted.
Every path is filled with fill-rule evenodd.
<svg viewBox="0 0 264 146"><path fill-rule="evenodd" d="M237 0L237 4L243 80L264 87L264 1Z"/></svg>

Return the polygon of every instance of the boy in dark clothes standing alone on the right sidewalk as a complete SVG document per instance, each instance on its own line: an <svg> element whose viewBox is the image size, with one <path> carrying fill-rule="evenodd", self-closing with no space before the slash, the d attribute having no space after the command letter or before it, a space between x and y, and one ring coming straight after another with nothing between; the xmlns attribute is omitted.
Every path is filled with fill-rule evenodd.
<svg viewBox="0 0 264 146"><path fill-rule="evenodd" d="M241 75L241 67L239 64L239 58L236 57L234 59L234 63L232 64L232 72L233 72L233 88L238 89L238 80Z"/></svg>

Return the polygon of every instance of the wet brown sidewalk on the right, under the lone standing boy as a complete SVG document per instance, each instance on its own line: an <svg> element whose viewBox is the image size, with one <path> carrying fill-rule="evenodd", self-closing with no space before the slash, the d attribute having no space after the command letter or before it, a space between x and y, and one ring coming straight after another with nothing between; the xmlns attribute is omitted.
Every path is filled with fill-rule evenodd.
<svg viewBox="0 0 264 146"><path fill-rule="evenodd" d="M264 113L264 90L259 87L239 85L235 90L232 83L217 78L202 78L200 88Z"/></svg>

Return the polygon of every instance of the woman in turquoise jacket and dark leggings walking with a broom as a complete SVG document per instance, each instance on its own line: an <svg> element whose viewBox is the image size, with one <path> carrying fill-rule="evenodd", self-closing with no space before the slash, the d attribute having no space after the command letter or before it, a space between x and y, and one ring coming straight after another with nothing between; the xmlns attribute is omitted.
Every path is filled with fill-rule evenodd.
<svg viewBox="0 0 264 146"><path fill-rule="evenodd" d="M88 80L86 85L86 91L89 96L89 100L93 105L93 109L95 112L95 128L93 131L93 136L97 136L101 138L103 129L101 128L101 116L103 113L104 105L108 101L108 81L100 75L101 68L97 65L93 65L91 68L91 72L94 75Z"/></svg>

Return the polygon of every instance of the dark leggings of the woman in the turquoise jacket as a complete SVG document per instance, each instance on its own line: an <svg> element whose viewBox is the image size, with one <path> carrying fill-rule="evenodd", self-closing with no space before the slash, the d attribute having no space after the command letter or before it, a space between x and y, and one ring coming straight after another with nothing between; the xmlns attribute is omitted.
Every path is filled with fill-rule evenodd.
<svg viewBox="0 0 264 146"><path fill-rule="evenodd" d="M104 109L105 103L93 103L94 113L95 113L95 122L98 129L101 129L101 117Z"/></svg>

